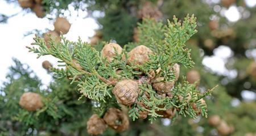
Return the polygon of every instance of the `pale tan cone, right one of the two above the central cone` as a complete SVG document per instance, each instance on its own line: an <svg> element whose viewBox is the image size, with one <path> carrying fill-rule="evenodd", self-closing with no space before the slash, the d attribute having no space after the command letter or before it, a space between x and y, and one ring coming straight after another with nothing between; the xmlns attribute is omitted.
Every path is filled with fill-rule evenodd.
<svg viewBox="0 0 256 136"><path fill-rule="evenodd" d="M139 45L128 53L127 62L133 65L142 65L148 61L148 55L152 53L150 48L147 48L144 45Z"/></svg>

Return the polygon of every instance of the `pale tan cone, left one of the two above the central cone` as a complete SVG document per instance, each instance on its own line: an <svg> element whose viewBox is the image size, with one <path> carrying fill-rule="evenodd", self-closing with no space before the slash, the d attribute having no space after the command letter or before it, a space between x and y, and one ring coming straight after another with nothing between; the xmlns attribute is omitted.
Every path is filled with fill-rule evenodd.
<svg viewBox="0 0 256 136"><path fill-rule="evenodd" d="M107 61L112 62L113 58L116 56L115 52L121 54L122 47L119 44L109 43L102 48L101 55L105 57Z"/></svg>

